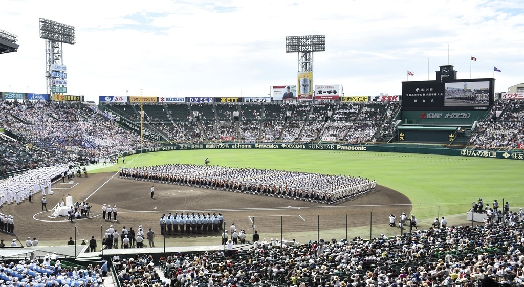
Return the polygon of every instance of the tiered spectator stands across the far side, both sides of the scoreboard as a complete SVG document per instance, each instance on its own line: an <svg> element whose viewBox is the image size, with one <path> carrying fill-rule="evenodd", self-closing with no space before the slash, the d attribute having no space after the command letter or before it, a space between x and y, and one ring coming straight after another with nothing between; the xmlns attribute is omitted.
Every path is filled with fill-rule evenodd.
<svg viewBox="0 0 524 287"><path fill-rule="evenodd" d="M395 139L400 102L299 104L145 104L144 127L177 143L331 142L367 144ZM494 117L500 111L499 117ZM139 149L137 131L116 125L127 119L140 126L137 104L84 104L0 101L0 176L57 163L91 160ZM238 115L237 117L235 115ZM474 149L514 149L524 141L522 100L496 102L472 130ZM145 147L160 147L144 139Z"/></svg>

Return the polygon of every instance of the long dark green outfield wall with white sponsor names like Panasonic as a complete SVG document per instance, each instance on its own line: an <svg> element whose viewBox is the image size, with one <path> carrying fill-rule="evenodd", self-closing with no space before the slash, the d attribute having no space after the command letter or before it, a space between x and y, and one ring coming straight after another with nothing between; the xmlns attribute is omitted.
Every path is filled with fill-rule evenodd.
<svg viewBox="0 0 524 287"><path fill-rule="evenodd" d="M475 158L497 158L524 160L524 152L515 151L486 151L471 149L446 149L413 146L362 146L362 145L330 145L324 143L195 143L174 144L168 147L146 148L126 151L112 156L129 156L131 154L157 152L167 150L193 150L193 149L302 149L302 150L331 150L331 151L360 151L360 152L399 152L438 154L441 156L462 156Z"/></svg>

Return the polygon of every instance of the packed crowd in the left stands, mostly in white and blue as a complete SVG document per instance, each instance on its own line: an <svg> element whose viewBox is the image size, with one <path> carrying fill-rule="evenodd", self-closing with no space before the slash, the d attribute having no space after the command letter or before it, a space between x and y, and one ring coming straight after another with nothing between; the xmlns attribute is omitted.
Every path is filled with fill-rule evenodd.
<svg viewBox="0 0 524 287"><path fill-rule="evenodd" d="M68 163L140 147L140 137L111 117L80 104L0 101L0 126L20 137L2 139L3 172ZM147 142L147 141L146 141ZM4 157L5 155L5 157Z"/></svg>

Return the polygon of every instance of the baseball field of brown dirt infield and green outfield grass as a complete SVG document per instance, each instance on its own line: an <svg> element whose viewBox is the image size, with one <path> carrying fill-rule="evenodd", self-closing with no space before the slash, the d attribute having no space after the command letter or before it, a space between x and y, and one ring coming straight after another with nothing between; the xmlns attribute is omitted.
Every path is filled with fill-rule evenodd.
<svg viewBox="0 0 524 287"><path fill-rule="evenodd" d="M335 205L283 200L190 186L150 183L119 179L120 167L144 167L169 163L202 164L209 158L212 165L305 171L323 174L346 174L375 179L375 192L358 196ZM250 240L254 229L261 238L296 238L299 242L321 238L376 237L381 233L398 235L401 230L389 227L388 216L401 212L414 214L419 228L429 228L436 217L445 216L449 225L471 224L466 212L472 202L483 198L492 205L508 201L511 210L524 205L522 197L522 161L482 159L427 154L379 153L356 151L305 150L184 150L163 151L128 156L125 164L108 167L88 166L88 178L74 178L72 183L61 181L53 185L48 195L48 208L64 196L73 202L86 201L92 206L90 218L68 222L50 218L50 211L41 211L41 195L34 202L8 205L5 214L16 218L15 233L21 241L38 237L41 245L64 245L69 237L77 242L100 239L114 225L151 227L158 234L162 214L222 213L226 226L231 223L246 229ZM155 186L155 198L149 196ZM117 205L118 218L103 220L103 204ZM501 204L502 205L502 204ZM147 230L147 229L146 229ZM11 237L4 235L6 241ZM166 246L220 244L220 234L167 236Z"/></svg>

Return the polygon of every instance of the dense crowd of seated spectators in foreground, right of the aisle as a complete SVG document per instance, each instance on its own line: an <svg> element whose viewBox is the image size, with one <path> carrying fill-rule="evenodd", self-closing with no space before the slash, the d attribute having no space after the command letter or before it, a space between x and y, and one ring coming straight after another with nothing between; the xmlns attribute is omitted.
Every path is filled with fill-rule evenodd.
<svg viewBox="0 0 524 287"><path fill-rule="evenodd" d="M161 264L170 285L180 287L428 287L489 281L492 277L522 286L523 232L522 223L501 223L431 227L368 241L358 237L299 244L264 238L230 255L222 250L194 255L178 252ZM495 286L491 283L489 286Z"/></svg>

